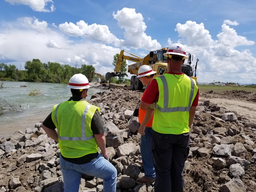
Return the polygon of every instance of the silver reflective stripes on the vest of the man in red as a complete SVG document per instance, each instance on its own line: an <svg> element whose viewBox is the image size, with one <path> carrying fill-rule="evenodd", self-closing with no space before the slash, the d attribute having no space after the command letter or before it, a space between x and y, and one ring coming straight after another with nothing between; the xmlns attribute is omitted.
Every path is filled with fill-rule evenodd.
<svg viewBox="0 0 256 192"><path fill-rule="evenodd" d="M168 90L168 84L167 80L164 75L159 77L162 80L163 83L163 108L161 108L158 104L156 105L156 108L159 109L160 112L185 112L190 110L191 102L193 99L194 95L194 90L195 90L195 83L192 78L190 78L190 84L191 84L191 91L190 91L190 96L189 96L189 102L187 107L168 107L168 102L169 102L169 90Z"/></svg>

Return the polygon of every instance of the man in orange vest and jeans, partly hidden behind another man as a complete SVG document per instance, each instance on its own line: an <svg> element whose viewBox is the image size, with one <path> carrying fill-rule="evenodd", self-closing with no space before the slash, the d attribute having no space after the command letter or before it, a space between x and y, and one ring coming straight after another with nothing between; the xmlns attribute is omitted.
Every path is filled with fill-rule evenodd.
<svg viewBox="0 0 256 192"><path fill-rule="evenodd" d="M148 65L142 65L139 68L138 76L141 83L146 86L145 91L147 91L147 86L154 78L154 75L157 72L153 71L152 68ZM142 95L142 98L144 93ZM139 130L138 133L141 135L140 137L140 153L142 157L142 165L145 170L145 175L136 180L137 183L149 183L155 181L156 173L153 163L153 157L150 150L151 145L151 137L152 137L152 122L153 122L154 109L150 109L148 111L141 110L139 107Z"/></svg>

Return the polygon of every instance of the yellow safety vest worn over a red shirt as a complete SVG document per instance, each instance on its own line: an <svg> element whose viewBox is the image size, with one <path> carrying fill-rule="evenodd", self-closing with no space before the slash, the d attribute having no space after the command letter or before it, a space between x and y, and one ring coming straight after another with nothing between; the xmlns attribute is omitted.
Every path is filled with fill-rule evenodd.
<svg viewBox="0 0 256 192"><path fill-rule="evenodd" d="M156 80L159 100L153 118L153 130L163 134L188 133L189 110L198 91L195 80L185 74L165 74Z"/></svg>

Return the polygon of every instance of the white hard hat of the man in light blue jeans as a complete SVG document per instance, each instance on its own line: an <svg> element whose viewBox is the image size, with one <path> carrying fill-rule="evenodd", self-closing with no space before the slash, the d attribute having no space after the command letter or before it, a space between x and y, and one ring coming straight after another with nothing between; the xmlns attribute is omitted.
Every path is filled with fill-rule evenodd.
<svg viewBox="0 0 256 192"><path fill-rule="evenodd" d="M71 89L88 89L91 87L87 77L83 74L75 74L69 79L69 85L67 86Z"/></svg>

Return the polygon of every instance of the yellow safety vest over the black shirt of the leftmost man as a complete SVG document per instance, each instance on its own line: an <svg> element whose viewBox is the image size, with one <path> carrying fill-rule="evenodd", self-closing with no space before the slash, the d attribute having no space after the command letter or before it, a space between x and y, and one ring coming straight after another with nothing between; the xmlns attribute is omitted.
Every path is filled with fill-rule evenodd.
<svg viewBox="0 0 256 192"><path fill-rule="evenodd" d="M87 101L65 101L53 107L52 120L58 130L61 155L79 158L98 151L91 121L99 108Z"/></svg>

